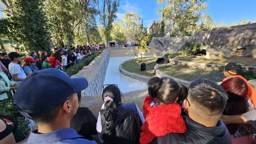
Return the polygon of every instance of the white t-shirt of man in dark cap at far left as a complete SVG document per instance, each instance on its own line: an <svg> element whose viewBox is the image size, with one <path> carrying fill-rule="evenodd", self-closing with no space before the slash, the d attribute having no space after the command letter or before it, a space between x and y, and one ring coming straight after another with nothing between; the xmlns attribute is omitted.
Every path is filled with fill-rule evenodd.
<svg viewBox="0 0 256 144"><path fill-rule="evenodd" d="M19 64L16 63L10 63L9 64L9 72L13 77L13 74L18 74L19 78L26 78L26 74L24 72L24 70L22 69L22 67ZM21 81L14 81L15 83L20 83Z"/></svg>

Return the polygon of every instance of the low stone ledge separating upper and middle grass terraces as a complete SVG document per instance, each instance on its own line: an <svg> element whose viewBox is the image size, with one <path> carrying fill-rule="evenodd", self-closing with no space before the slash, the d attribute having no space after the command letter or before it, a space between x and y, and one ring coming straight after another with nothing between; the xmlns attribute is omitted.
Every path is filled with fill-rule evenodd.
<svg viewBox="0 0 256 144"><path fill-rule="evenodd" d="M205 69L205 70L224 71L224 65L220 65L220 64L195 63L195 62L182 61L182 60L176 60L176 59L169 59L169 62L178 64L181 66L197 67L197 68ZM242 66L242 69L253 70L253 69L256 69L256 67Z"/></svg>

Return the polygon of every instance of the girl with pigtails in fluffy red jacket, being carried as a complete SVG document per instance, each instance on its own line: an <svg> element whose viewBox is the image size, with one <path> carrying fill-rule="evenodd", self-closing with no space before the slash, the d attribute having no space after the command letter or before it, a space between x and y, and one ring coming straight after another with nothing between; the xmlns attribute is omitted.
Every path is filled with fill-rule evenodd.
<svg viewBox="0 0 256 144"><path fill-rule="evenodd" d="M141 126L140 143L150 143L155 137L187 130L181 116L181 105L188 95L187 87L169 77L151 77L148 81L149 96L143 111L146 121Z"/></svg>

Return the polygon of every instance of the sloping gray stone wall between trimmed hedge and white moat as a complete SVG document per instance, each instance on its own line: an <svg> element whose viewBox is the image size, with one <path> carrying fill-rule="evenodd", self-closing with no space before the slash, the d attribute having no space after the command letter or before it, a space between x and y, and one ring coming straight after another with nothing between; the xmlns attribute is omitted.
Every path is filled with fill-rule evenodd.
<svg viewBox="0 0 256 144"><path fill-rule="evenodd" d="M82 91L82 95L97 95L102 93L106 70L109 64L109 48L103 50L98 57L85 66L78 74L71 77L81 76L88 81L88 87Z"/></svg>

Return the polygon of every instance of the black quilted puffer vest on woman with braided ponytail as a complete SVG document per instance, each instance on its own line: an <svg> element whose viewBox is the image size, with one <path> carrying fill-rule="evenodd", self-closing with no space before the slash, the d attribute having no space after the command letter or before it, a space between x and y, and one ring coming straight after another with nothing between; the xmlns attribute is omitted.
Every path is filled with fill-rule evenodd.
<svg viewBox="0 0 256 144"><path fill-rule="evenodd" d="M142 122L134 103L117 105L116 125L112 129L112 135L107 135L104 109L100 111L102 132L100 133L106 144L139 144L140 127Z"/></svg>

